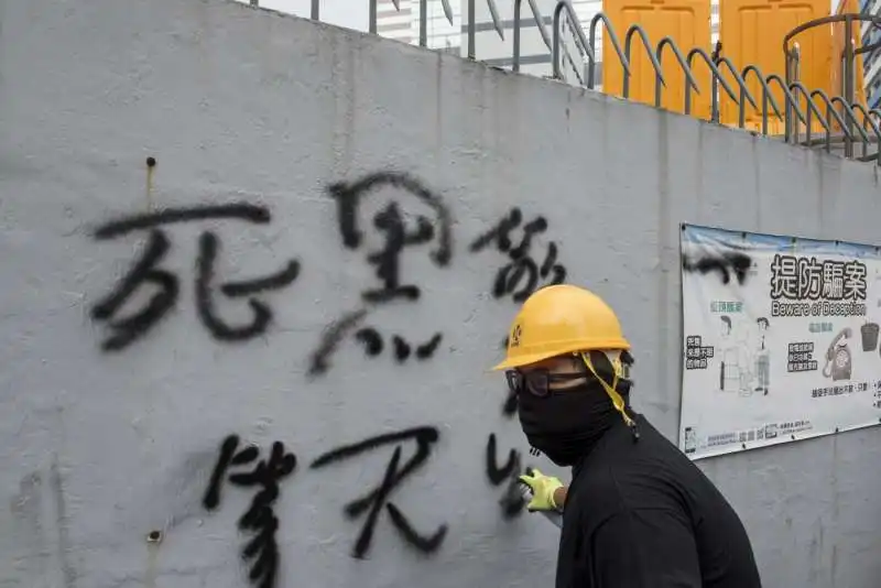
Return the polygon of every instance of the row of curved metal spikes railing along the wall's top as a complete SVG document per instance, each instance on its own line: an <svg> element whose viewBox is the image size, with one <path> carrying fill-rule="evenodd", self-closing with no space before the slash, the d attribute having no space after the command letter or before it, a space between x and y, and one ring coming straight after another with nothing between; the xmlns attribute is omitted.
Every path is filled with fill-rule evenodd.
<svg viewBox="0 0 881 588"><path fill-rule="evenodd" d="M396 10L400 10L400 0L391 0ZM428 0L420 1L420 36L421 46L428 45L427 22L428 22ZM496 0L483 0L487 4L493 29L501 40L504 40L504 28L499 18ZM513 1L513 47L511 68L520 72L521 68L521 29L523 28L522 3L523 0ZM653 44L646 31L639 24L633 24L624 31L624 42L620 41L609 18L603 13L597 13L590 20L585 33L577 18L575 8L570 0L559 0L556 3L553 14L553 31L548 34L545 26L545 18L539 10L535 0L526 0L530 6L531 17L537 28L541 39L551 54L552 77L561 81L583 86L588 89L597 89L597 69L601 64L596 57L598 33L606 35L611 46L613 55L605 55L603 59L616 58L623 74L623 85L621 97L630 98L631 92L631 63L634 51L644 52L649 63L654 70L654 106L662 107L664 90L667 88L667 77L664 76L662 58L665 52L671 52L675 58L677 67L684 77L684 104L682 112L694 116L692 112L694 95L708 91L710 96L711 122L719 122L721 119L722 94L727 96L737 109L737 128L748 128L748 113L750 108L760 119L760 126L754 132L768 137L782 137L783 141L793 144L802 144L812 148L820 148L831 152L834 145L844 144L844 155L858 161L872 161L881 166L879 150L881 149L881 109L867 109L855 100L855 72L856 58L859 54L872 52L881 47L881 42L871 46L856 47L853 41L853 24L856 22L869 23L869 26L881 29L881 17L867 14L839 14L817 19L803 23L786 35L783 42L783 51L786 59L786 70L784 75L776 73L765 75L757 65L747 64L738 68L736 64L721 54L721 44L717 43L716 51L710 55L701 47L693 47L683 51L676 42L665 36L656 44ZM251 6L259 6L259 0L249 0ZM477 55L477 23L476 23L476 2L467 2L467 25L464 32L467 35L467 56L476 59ZM440 0L444 14L447 21L455 25L454 13L449 0ZM320 18L320 0L312 0L313 20ZM369 0L369 31L377 33L377 7L378 0ZM804 31L824 24L844 23L845 24L845 50L841 54L844 73L842 94L830 97L823 89L808 89L798 80L798 69L801 66L801 52L797 42L793 40ZM564 30L573 35L573 42L577 50L578 57L584 62L579 67L577 58L568 50L563 41ZM859 31L859 28L857 28ZM639 47L633 46L634 41ZM703 64L709 70L709 88L700 88L695 75L696 63ZM574 74L574 79L567 79L566 72ZM725 72L725 73L724 73ZM728 75L726 75L726 73ZM748 80L754 79L758 84L761 96L757 102L755 97L750 91ZM783 105L779 104L774 97L774 88L779 91L777 96L783 99ZM780 121L783 132L780 135L771 133L771 122ZM815 130L822 129L822 138L815 137ZM855 156L855 146L859 144L859 155Z"/></svg>

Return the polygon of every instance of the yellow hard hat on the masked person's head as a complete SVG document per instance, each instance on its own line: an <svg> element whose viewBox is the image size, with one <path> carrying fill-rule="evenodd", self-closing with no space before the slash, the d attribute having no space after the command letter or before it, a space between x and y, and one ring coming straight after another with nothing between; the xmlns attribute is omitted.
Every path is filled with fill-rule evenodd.
<svg viewBox="0 0 881 588"><path fill-rule="evenodd" d="M534 292L520 308L508 334L508 370L555 356L595 349L630 349L621 324L602 298L569 284Z"/></svg>

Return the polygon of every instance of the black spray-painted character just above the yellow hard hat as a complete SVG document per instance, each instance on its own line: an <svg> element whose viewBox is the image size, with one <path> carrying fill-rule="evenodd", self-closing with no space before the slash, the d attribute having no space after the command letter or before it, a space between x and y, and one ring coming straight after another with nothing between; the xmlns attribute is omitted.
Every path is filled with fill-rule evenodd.
<svg viewBox="0 0 881 588"><path fill-rule="evenodd" d="M557 262L555 242L548 243L541 264L531 255L533 239L547 230L547 220L540 216L524 225L522 222L520 208L512 208L505 218L475 239L469 247L472 253L478 253L494 243L498 251L508 255L510 262L496 273L492 295L497 298L511 295L518 303L525 301L540 285L562 284L566 280L566 268ZM511 233L516 229L523 232L523 237L515 246Z"/></svg>

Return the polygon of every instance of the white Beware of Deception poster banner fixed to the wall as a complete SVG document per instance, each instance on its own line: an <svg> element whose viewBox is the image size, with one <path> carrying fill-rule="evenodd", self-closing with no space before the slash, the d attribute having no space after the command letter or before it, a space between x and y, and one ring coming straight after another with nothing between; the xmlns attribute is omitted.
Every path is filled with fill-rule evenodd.
<svg viewBox="0 0 881 588"><path fill-rule="evenodd" d="M693 459L875 425L881 252L682 227L679 447Z"/></svg>

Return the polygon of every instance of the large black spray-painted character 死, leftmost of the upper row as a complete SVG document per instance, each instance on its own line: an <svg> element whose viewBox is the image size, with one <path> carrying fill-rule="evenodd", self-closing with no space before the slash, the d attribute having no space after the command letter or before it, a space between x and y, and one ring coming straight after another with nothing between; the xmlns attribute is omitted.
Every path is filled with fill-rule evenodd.
<svg viewBox="0 0 881 588"><path fill-rule="evenodd" d="M154 227L204 219L238 219L265 224L270 220L270 213L265 207L248 203L167 208L153 214L113 220L95 230L95 238L104 240L135 230L151 229L144 252L135 260L126 275L117 282L110 294L100 298L91 308L93 319L105 322L110 331L110 335L101 342L102 350L119 351L142 338L177 303L181 290L180 280L172 272L160 268L171 249L171 242L161 229ZM199 238L195 279L195 300L199 319L218 341L251 339L263 334L272 320L272 311L253 295L280 290L293 283L300 275L300 262L291 260L272 275L220 284L219 290L227 297L248 297L248 304L253 315L248 324L230 326L218 316L215 309L213 281L219 249L220 243L217 236L210 231L204 231ZM148 284L157 288L149 302L129 316L118 317L117 314L122 306L140 287Z"/></svg>

